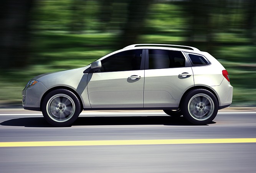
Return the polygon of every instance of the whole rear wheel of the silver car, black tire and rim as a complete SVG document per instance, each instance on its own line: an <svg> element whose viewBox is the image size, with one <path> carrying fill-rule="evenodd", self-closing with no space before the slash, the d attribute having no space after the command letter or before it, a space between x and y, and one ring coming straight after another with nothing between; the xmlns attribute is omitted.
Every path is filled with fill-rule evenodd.
<svg viewBox="0 0 256 173"><path fill-rule="evenodd" d="M181 104L183 117L196 125L212 122L218 113L218 101L208 90L195 89L188 92Z"/></svg>

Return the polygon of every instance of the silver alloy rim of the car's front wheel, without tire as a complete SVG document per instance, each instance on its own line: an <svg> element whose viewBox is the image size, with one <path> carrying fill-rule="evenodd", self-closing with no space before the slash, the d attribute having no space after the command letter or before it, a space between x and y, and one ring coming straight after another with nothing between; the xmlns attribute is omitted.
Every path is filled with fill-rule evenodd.
<svg viewBox="0 0 256 173"><path fill-rule="evenodd" d="M71 119L75 112L73 99L66 94L52 96L46 105L49 117L56 122L66 122Z"/></svg>

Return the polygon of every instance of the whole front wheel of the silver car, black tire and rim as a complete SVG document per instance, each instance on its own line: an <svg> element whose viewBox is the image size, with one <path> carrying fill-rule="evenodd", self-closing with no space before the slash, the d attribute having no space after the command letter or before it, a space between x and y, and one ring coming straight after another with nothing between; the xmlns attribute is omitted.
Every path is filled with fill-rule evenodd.
<svg viewBox="0 0 256 173"><path fill-rule="evenodd" d="M57 127L66 127L78 118L81 104L73 92L56 89L46 95L41 109L48 123Z"/></svg>

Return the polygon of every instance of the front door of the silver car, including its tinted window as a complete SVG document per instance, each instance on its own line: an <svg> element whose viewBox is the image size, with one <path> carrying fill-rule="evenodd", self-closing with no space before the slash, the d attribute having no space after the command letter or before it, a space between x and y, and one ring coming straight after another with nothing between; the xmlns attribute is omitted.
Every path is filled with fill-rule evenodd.
<svg viewBox="0 0 256 173"><path fill-rule="evenodd" d="M144 54L136 49L101 60L101 69L88 75L92 108L143 107Z"/></svg>

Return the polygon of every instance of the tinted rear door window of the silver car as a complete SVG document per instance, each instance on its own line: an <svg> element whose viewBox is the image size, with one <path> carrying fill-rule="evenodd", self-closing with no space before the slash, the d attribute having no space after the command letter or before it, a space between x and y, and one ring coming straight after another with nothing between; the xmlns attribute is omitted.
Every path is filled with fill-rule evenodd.
<svg viewBox="0 0 256 173"><path fill-rule="evenodd" d="M149 49L149 69L185 67L181 51Z"/></svg>

